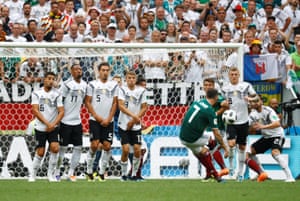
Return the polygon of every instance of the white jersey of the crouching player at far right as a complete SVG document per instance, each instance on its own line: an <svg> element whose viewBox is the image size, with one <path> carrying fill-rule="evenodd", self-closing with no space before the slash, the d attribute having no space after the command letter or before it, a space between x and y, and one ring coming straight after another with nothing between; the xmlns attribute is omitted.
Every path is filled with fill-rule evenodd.
<svg viewBox="0 0 300 201"><path fill-rule="evenodd" d="M263 105L261 112L258 112L257 110L253 109L249 114L249 125L252 125L255 122L259 122L263 125L267 125L275 121L280 121L280 119L277 116L276 112L268 106ZM284 130L281 126L277 128L271 128L271 129L261 129L261 134L263 135L264 138L283 137Z"/></svg>

